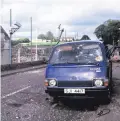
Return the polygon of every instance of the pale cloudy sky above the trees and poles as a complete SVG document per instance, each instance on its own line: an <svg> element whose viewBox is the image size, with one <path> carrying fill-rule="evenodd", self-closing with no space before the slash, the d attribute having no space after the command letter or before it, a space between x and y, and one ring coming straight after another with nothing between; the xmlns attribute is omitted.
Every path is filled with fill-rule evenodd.
<svg viewBox="0 0 120 121"><path fill-rule="evenodd" d="M78 38L84 34L97 39L94 30L108 19L120 20L120 0L1 0L1 24L9 32L10 9L12 25L22 26L13 38L30 38L30 17L33 39L38 34L51 31L59 35L58 25L66 30L67 37ZM65 36L65 32L63 33Z"/></svg>

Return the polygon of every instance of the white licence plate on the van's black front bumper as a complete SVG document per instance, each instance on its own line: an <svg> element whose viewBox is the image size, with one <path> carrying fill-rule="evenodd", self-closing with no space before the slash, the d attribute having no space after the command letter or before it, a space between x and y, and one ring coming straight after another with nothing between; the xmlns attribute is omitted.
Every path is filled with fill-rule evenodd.
<svg viewBox="0 0 120 121"><path fill-rule="evenodd" d="M85 89L64 89L67 94L85 94Z"/></svg>

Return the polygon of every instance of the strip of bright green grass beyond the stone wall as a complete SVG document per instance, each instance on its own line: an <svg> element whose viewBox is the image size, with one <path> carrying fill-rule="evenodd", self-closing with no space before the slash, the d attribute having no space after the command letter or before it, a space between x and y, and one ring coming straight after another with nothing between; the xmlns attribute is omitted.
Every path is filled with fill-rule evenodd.
<svg viewBox="0 0 120 121"><path fill-rule="evenodd" d="M64 42L60 42L59 44L63 44ZM31 46L31 43L22 43L24 46ZM51 45L56 45L57 42L37 42L37 45L42 45L42 46L51 46ZM36 45L36 42L32 42L32 45Z"/></svg>

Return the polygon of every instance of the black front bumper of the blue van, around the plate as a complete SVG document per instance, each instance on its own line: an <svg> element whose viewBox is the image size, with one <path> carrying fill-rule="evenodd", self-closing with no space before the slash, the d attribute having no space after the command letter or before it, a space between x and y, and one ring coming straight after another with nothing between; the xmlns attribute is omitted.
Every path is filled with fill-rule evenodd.
<svg viewBox="0 0 120 121"><path fill-rule="evenodd" d="M47 88L45 92L52 97L61 98L106 98L110 95L110 90L107 87L101 89L85 89L85 94L65 94L64 88Z"/></svg>

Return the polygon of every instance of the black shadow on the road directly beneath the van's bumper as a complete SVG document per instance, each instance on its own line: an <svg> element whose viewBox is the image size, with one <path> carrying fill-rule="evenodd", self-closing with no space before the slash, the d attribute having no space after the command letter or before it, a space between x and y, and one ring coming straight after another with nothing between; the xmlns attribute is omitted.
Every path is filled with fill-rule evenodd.
<svg viewBox="0 0 120 121"><path fill-rule="evenodd" d="M60 103L60 105L59 105ZM108 103L107 103L108 104ZM63 106L67 110L76 110L76 111L95 111L100 105L106 105L106 102L103 100L95 99L62 99L58 102L57 107Z"/></svg>

